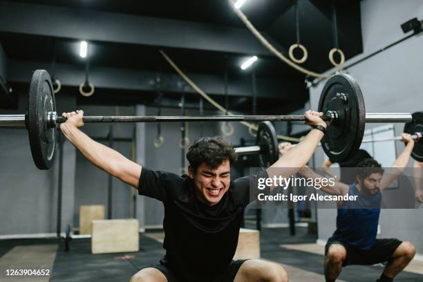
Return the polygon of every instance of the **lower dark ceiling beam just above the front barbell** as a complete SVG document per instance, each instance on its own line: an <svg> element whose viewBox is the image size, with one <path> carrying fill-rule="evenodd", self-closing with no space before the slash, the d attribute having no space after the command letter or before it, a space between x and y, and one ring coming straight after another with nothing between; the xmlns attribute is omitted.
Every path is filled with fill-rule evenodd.
<svg viewBox="0 0 423 282"><path fill-rule="evenodd" d="M36 69L50 70L50 63L30 62L9 59L8 82L28 83L32 71ZM50 72L50 71L49 71ZM50 72L51 73L51 72ZM131 68L111 68L91 66L89 82L96 88L126 90L126 91L156 91L156 77L158 72L144 71ZM225 95L224 78L221 75L208 75L202 73L187 73L205 93L210 95ZM185 82L176 73L161 73L160 88L164 92L182 93ZM85 80L84 66L69 64L56 64L55 77L62 86L79 87ZM307 95L303 79L283 77L256 79L257 97L276 99L281 101L294 101L298 97ZM186 93L196 93L194 89L185 86ZM252 82L250 75L233 77L229 80L228 95L234 97L252 97Z"/></svg>

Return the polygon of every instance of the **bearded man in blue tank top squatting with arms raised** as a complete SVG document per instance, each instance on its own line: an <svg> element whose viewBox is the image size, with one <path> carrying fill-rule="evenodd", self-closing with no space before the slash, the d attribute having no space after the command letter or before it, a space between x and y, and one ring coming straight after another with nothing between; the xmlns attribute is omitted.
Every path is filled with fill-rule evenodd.
<svg viewBox="0 0 423 282"><path fill-rule="evenodd" d="M410 160L414 142L403 133L404 151L395 160L393 169L384 174L381 165L367 158L357 164L356 181L351 185L335 182L335 186L321 187L336 196L357 196L357 200L338 202L337 229L325 247L326 281L335 281L342 267L347 265L373 265L384 263L386 267L379 282L391 282L415 255L412 243L396 238L376 238L382 203L381 191L388 187L404 170ZM322 178L312 169L299 171L305 178Z"/></svg>

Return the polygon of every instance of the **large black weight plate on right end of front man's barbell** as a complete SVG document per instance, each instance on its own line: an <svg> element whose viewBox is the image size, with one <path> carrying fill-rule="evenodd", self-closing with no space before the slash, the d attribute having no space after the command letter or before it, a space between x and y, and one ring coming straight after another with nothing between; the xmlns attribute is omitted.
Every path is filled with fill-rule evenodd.
<svg viewBox="0 0 423 282"><path fill-rule="evenodd" d="M319 111L339 113L339 119L330 124L321 140L323 151L332 162L353 158L366 126L364 99L355 79L346 74L330 77L320 96Z"/></svg>

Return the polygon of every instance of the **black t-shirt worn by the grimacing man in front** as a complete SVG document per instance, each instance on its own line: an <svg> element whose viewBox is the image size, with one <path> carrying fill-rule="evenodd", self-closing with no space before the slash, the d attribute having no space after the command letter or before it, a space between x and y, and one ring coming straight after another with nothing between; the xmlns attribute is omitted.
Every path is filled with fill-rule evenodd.
<svg viewBox="0 0 423 282"><path fill-rule="evenodd" d="M164 205L166 255L160 263L184 281L205 281L226 270L236 251L244 209L252 198L250 185L257 187L257 178L267 178L267 172L231 181L220 202L209 206L198 200L189 176L142 167L138 194ZM268 187L263 193L268 193Z"/></svg>

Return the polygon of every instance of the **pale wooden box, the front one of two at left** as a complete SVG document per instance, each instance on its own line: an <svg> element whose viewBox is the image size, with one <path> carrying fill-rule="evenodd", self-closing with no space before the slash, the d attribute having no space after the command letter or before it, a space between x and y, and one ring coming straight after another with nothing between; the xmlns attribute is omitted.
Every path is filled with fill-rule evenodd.
<svg viewBox="0 0 423 282"><path fill-rule="evenodd" d="M92 229L91 252L93 254L140 250L137 219L93 220Z"/></svg>

